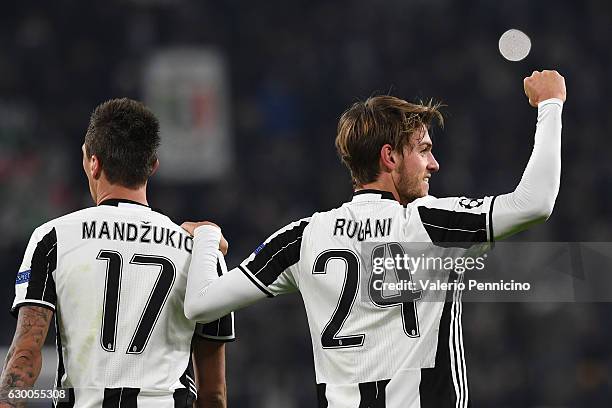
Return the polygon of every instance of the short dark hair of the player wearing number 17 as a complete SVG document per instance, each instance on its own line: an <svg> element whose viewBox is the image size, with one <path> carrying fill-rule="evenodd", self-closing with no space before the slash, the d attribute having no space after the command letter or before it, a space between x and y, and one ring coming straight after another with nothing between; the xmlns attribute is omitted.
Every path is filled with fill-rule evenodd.
<svg viewBox="0 0 612 408"><path fill-rule="evenodd" d="M110 183L137 188L153 172L159 143L153 112L132 99L111 99L91 114L85 153L96 155Z"/></svg>

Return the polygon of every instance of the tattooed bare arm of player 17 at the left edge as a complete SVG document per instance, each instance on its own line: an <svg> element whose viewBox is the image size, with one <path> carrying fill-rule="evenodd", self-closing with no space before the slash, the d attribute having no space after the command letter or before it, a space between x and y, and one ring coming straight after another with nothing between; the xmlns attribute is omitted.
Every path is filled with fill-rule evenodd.
<svg viewBox="0 0 612 408"><path fill-rule="evenodd" d="M0 407L25 407L25 402L8 398L11 388L30 388L42 366L41 349L47 338L53 311L39 306L19 309L17 329L0 377Z"/></svg>

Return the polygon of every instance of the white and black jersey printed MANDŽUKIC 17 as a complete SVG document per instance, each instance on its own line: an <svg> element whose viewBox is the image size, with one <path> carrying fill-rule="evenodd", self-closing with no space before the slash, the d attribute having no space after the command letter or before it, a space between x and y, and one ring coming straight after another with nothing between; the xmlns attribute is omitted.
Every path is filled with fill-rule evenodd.
<svg viewBox="0 0 612 408"><path fill-rule="evenodd" d="M55 311L59 407L191 407L194 330L234 339L233 316L206 325L183 311L192 238L165 215L107 200L37 228L12 312ZM222 256L220 258L222 260ZM219 272L225 264L219 264Z"/></svg>

